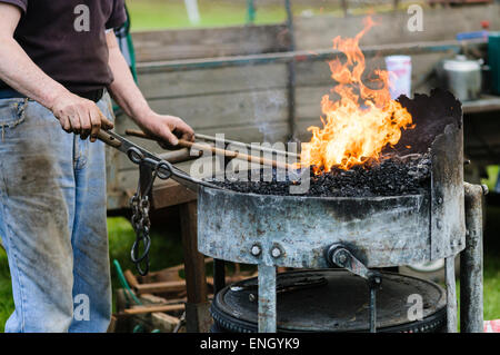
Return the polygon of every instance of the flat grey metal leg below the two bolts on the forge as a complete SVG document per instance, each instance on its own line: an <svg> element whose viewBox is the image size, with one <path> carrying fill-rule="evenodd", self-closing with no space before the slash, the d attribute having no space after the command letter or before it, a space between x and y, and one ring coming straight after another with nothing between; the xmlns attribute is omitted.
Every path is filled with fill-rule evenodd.
<svg viewBox="0 0 500 355"><path fill-rule="evenodd" d="M276 267L259 264L259 333L276 333Z"/></svg>

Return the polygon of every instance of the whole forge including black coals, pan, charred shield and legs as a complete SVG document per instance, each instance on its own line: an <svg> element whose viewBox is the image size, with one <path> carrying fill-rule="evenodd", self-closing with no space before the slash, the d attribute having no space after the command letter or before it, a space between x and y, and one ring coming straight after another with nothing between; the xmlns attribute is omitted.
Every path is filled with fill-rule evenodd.
<svg viewBox="0 0 500 355"><path fill-rule="evenodd" d="M341 267L364 278L370 304L366 329L374 332L386 322L377 322L377 292L383 278L391 278L378 269L441 258L446 259L447 327L456 331L453 260L469 244L466 238L481 234L478 200L483 190L463 183L461 103L442 90L413 99L400 97L399 102L416 126L390 147L389 158L370 167L313 175L310 190L302 195L287 193L292 179L213 180L214 186L200 186L199 250L216 259L259 266L254 282L259 332L277 331L276 267ZM466 253L471 258L462 274L470 302L463 312L479 327L473 315L482 307L477 253ZM436 299L432 306L438 307L442 299ZM214 314L220 316L220 309Z"/></svg>

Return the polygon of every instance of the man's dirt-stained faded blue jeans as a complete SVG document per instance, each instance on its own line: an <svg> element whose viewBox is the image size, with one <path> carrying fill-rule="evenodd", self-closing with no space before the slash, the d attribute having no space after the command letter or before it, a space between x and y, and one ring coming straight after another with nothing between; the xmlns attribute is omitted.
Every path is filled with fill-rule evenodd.
<svg viewBox="0 0 500 355"><path fill-rule="evenodd" d="M109 95L98 102L112 119ZM111 282L106 158L52 112L0 99L0 236L16 310L6 332L106 332Z"/></svg>

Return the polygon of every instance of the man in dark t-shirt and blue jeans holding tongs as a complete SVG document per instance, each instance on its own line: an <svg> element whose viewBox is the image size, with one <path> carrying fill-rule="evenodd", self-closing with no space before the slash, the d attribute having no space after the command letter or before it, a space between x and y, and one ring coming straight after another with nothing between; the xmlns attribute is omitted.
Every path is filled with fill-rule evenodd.
<svg viewBox="0 0 500 355"><path fill-rule="evenodd" d="M112 31L124 21L123 0L0 0L0 235L16 304L6 332L108 327L106 164L96 141L113 127L106 89L146 132L173 146L193 138L134 85Z"/></svg>

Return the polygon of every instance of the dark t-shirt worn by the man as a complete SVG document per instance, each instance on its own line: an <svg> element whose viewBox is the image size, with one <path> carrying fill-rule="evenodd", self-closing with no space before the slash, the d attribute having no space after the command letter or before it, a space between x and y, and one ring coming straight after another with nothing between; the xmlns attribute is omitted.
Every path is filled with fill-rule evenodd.
<svg viewBox="0 0 500 355"><path fill-rule="evenodd" d="M106 30L127 19L124 0L0 0L22 9L14 39L48 76L72 92L110 85ZM0 88L6 83L0 81Z"/></svg>

